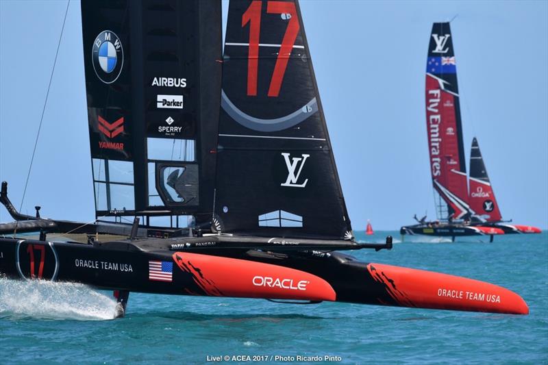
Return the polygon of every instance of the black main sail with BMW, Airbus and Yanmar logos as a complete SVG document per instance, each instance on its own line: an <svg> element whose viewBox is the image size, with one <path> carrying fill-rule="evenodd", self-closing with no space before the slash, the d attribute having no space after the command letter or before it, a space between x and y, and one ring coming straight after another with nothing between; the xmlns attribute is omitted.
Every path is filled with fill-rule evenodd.
<svg viewBox="0 0 548 365"><path fill-rule="evenodd" d="M221 3L82 1L97 216L211 217Z"/></svg>

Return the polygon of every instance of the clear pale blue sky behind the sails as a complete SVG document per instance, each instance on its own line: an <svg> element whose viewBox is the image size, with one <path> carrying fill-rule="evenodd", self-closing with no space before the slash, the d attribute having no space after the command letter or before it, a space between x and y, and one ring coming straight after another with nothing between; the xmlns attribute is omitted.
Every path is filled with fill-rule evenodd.
<svg viewBox="0 0 548 365"><path fill-rule="evenodd" d="M17 208L65 8L0 0L0 180ZM435 218L425 62L432 23L453 17L466 166L476 136L503 219L548 227L548 1L303 0L301 12L353 229ZM93 199L71 1L22 212L92 221Z"/></svg>

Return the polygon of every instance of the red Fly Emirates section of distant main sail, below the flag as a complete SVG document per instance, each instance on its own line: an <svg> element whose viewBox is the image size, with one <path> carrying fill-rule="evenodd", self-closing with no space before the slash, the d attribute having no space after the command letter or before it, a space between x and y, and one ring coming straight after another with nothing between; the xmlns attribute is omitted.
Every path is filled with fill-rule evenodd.
<svg viewBox="0 0 548 365"><path fill-rule="evenodd" d="M466 173L462 171L459 150L456 102L458 96L444 90L444 81L426 75L426 124L430 168L434 188L452 208L450 218L463 218L469 212Z"/></svg>

